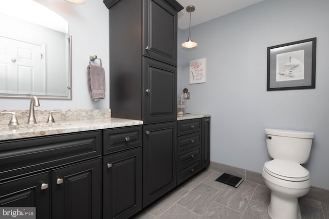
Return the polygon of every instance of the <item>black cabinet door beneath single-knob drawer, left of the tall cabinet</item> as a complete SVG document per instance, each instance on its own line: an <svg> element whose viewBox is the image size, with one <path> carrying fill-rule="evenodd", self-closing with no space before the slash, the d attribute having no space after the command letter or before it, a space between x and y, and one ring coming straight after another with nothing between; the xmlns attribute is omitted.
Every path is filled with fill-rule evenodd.
<svg viewBox="0 0 329 219"><path fill-rule="evenodd" d="M103 218L128 218L142 208L142 148L103 158Z"/></svg>

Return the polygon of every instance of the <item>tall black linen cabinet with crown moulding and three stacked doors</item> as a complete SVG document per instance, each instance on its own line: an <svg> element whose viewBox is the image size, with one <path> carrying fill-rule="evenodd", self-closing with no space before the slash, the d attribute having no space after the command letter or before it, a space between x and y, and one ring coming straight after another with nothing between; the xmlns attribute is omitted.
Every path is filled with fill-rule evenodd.
<svg viewBox="0 0 329 219"><path fill-rule="evenodd" d="M175 0L104 0L109 9L110 108L143 120L142 207L176 186Z"/></svg>

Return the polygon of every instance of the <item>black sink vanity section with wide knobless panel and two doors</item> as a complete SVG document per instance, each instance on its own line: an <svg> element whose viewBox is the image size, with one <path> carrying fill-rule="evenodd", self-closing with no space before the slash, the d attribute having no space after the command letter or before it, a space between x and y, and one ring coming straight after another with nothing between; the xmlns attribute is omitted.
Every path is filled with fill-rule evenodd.
<svg viewBox="0 0 329 219"><path fill-rule="evenodd" d="M0 142L0 205L36 218L101 218L101 131Z"/></svg>

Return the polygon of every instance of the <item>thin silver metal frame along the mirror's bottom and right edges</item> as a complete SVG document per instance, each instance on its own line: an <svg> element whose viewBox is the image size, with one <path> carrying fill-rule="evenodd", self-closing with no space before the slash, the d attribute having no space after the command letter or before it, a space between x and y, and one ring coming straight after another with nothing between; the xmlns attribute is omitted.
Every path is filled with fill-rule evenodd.
<svg viewBox="0 0 329 219"><path fill-rule="evenodd" d="M33 95L33 94L29 94L29 95L11 95L11 94L7 94L7 95L3 95L0 94L0 98L31 98L31 96L37 96L39 99L72 99L72 35L68 35L67 36L67 40L68 40L68 56L69 56L69 63L68 63L68 73L69 73L69 85L67 87L67 89L69 89L69 95L67 97L65 96L46 96L46 95L42 95L42 96L38 96L38 95Z"/></svg>

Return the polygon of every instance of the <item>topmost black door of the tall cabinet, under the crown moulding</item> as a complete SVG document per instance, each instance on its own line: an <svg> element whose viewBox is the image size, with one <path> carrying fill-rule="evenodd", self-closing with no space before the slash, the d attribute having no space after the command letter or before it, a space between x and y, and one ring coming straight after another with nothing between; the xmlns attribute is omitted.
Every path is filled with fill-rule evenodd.
<svg viewBox="0 0 329 219"><path fill-rule="evenodd" d="M163 0L143 0L142 55L177 66L177 11Z"/></svg>

